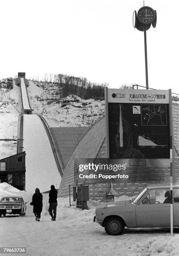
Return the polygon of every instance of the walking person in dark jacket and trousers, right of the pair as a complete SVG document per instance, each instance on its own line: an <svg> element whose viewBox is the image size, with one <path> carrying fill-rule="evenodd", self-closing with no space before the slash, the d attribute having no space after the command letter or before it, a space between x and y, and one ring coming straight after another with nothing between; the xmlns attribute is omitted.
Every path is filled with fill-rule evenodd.
<svg viewBox="0 0 179 256"><path fill-rule="evenodd" d="M51 190L49 192L49 214L51 216L51 220L56 220L56 207L57 207L57 190L54 185L51 185ZM54 215L52 213L54 212Z"/></svg>

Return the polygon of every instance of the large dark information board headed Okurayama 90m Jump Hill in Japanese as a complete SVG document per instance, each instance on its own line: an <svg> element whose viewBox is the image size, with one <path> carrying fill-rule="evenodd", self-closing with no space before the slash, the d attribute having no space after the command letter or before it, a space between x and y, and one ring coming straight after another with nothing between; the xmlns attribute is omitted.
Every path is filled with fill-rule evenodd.
<svg viewBox="0 0 179 256"><path fill-rule="evenodd" d="M169 164L169 90L106 88L105 107L108 158Z"/></svg>

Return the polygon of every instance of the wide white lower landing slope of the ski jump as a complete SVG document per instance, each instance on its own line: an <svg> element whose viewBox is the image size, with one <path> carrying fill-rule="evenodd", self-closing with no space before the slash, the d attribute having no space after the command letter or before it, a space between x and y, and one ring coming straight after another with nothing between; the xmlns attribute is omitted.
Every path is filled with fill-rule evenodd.
<svg viewBox="0 0 179 256"><path fill-rule="evenodd" d="M23 115L23 151L26 151L26 191L59 187L61 176L51 143L38 115Z"/></svg>

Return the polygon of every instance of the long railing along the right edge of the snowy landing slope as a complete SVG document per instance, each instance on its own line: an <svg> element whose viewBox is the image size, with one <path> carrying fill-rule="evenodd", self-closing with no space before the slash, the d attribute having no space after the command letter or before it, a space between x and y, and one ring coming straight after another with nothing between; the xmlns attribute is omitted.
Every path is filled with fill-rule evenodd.
<svg viewBox="0 0 179 256"><path fill-rule="evenodd" d="M64 173L64 164L63 164L63 161L62 161L61 156L59 154L59 150L57 148L54 136L53 136L53 134L50 130L50 127L49 127L48 123L46 122L46 120L41 115L38 115L38 117L41 119L41 121L43 123L43 126L46 129L46 133L49 137L49 140L50 140L50 143L51 143L51 148L52 148L52 151L54 153L56 165L59 169L60 176L62 177L63 173Z"/></svg>

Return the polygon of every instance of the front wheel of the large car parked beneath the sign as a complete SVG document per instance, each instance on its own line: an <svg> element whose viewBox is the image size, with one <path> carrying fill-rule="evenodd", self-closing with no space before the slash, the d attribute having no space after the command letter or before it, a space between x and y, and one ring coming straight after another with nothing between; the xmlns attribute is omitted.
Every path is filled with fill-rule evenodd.
<svg viewBox="0 0 179 256"><path fill-rule="evenodd" d="M110 217L105 222L105 230L108 235L117 236L124 230L124 222L118 217Z"/></svg>

